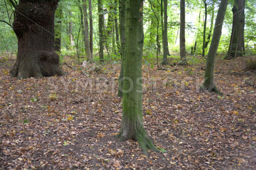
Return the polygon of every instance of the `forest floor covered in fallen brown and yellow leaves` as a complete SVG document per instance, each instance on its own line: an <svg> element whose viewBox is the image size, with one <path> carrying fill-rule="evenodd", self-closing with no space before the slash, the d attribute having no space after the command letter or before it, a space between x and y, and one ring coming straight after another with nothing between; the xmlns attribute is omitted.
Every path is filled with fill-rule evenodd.
<svg viewBox="0 0 256 170"><path fill-rule="evenodd" d="M163 153L143 155L115 138L122 121L119 63L103 73L10 79L0 58L0 170L255 170L256 72L245 59L217 59L223 96L200 90L204 59L189 66L143 64L143 120Z"/></svg>

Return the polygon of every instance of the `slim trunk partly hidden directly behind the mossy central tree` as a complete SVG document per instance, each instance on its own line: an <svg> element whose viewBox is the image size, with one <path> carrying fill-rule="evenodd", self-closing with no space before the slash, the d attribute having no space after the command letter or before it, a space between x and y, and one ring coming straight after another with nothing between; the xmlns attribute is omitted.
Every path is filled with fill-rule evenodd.
<svg viewBox="0 0 256 170"><path fill-rule="evenodd" d="M125 0L119 0L119 30L120 30L120 54L121 54L121 70L118 79L118 94L122 97L123 84L123 58L125 55Z"/></svg>

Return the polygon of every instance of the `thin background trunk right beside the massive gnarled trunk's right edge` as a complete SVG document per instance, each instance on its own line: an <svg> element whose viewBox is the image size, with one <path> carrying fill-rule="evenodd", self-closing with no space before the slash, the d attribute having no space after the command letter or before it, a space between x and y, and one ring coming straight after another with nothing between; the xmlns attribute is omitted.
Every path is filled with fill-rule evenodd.
<svg viewBox="0 0 256 170"><path fill-rule="evenodd" d="M62 17L62 7L59 6L55 12L56 23L54 25L55 30L55 39L54 39L54 48L55 51L61 53L61 17Z"/></svg>

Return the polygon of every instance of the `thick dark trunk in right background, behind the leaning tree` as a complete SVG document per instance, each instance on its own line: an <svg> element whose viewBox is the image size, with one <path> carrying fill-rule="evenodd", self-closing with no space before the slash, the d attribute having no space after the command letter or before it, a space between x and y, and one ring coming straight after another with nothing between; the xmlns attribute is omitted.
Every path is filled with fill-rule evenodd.
<svg viewBox="0 0 256 170"><path fill-rule="evenodd" d="M233 24L230 45L225 59L243 56L245 0L235 0L232 8ZM236 55L235 55L236 54Z"/></svg>

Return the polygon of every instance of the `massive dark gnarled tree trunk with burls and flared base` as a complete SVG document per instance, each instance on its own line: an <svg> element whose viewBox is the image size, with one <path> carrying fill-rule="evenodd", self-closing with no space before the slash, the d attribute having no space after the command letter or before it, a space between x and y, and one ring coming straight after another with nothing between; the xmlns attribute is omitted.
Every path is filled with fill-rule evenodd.
<svg viewBox="0 0 256 170"><path fill-rule="evenodd" d="M54 15L57 4L58 0L20 0L13 22L18 53L10 71L12 78L66 74L59 68L59 56L54 51ZM26 17L18 11L22 11Z"/></svg>

